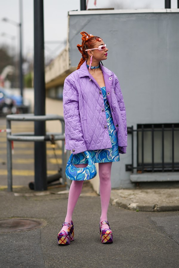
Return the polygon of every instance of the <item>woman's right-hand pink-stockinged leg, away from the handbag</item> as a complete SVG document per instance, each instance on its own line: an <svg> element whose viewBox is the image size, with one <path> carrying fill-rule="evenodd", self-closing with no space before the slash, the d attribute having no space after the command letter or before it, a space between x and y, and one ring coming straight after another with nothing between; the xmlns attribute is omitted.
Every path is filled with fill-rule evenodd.
<svg viewBox="0 0 179 268"><path fill-rule="evenodd" d="M107 221L107 210L111 194L111 166L112 162L99 163L100 197L101 197L101 221ZM107 224L103 228L109 228Z"/></svg>

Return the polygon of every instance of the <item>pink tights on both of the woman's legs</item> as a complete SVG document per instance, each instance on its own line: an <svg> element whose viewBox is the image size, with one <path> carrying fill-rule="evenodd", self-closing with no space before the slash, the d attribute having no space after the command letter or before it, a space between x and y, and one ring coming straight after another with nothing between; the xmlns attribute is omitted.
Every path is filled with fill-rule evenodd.
<svg viewBox="0 0 179 268"><path fill-rule="evenodd" d="M100 197L101 197L101 221L107 220L107 210L109 206L110 194L111 194L111 166L112 162L108 163L99 163L99 179L100 179ZM75 165L76 167L86 167L87 164ZM78 197L81 194L84 181L75 181L73 180L70 186L69 197L68 197L68 206L67 206L67 215L65 222L71 222L72 214L75 208L75 205L78 201ZM103 225L103 228L108 228L108 225ZM67 229L66 226L62 230Z"/></svg>

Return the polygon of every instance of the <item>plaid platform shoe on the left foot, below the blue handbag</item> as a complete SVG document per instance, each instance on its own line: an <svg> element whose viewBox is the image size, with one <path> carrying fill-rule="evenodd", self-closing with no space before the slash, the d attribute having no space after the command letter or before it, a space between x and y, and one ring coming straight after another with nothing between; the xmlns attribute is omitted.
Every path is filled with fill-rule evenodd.
<svg viewBox="0 0 179 268"><path fill-rule="evenodd" d="M74 225L71 221L71 224L69 222L64 222L62 224L63 226L68 226L67 230L61 231L58 233L58 244L60 245L69 245L70 241L74 240Z"/></svg>

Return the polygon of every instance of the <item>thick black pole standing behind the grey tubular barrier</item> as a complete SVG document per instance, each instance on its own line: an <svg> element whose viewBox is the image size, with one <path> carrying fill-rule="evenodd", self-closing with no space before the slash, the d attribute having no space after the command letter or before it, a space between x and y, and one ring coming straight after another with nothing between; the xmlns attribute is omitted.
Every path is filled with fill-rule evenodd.
<svg viewBox="0 0 179 268"><path fill-rule="evenodd" d="M44 4L34 0L34 114L45 115ZM35 135L45 135L45 121L34 123ZM35 191L47 190L46 143L35 142Z"/></svg>

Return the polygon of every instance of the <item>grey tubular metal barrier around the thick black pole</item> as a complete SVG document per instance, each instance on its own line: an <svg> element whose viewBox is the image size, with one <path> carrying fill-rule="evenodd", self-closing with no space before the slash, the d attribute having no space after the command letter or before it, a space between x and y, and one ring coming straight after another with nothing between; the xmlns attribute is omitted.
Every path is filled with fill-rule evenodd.
<svg viewBox="0 0 179 268"><path fill-rule="evenodd" d="M59 120L62 126L62 133L46 133L45 136L35 136L32 132L26 133L11 133L11 121L50 121L50 120ZM21 114L21 115L7 115L6 116L6 128L7 128L7 191L12 191L12 147L11 141L62 141L62 183L65 184L65 167L67 163L68 151L65 154L65 123L64 118L58 115L44 115L44 116L35 116L34 114ZM69 151L70 152L70 151ZM55 177L52 175L51 177ZM57 177L57 176L56 176ZM49 178L52 182L53 178ZM69 185L67 184L67 187Z"/></svg>

